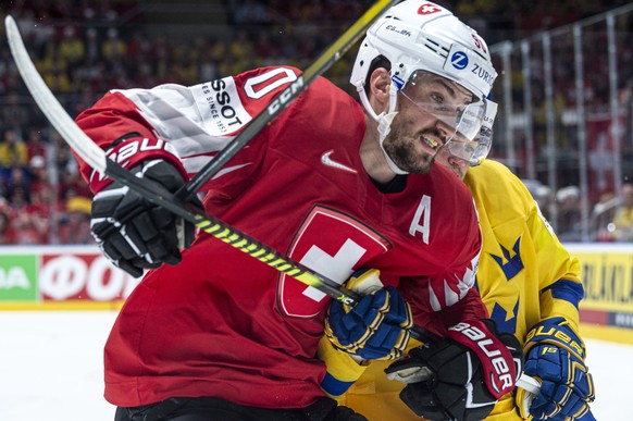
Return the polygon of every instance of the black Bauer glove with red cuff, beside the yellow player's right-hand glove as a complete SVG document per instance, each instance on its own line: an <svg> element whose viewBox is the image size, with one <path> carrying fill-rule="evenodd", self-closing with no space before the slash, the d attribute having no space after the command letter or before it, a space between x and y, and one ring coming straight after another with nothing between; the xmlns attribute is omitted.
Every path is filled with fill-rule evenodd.
<svg viewBox="0 0 633 421"><path fill-rule="evenodd" d="M511 334L498 334L492 320L462 322L446 338L413 348L390 364L390 380L407 383L400 398L432 421L483 420L513 389L523 352Z"/></svg>

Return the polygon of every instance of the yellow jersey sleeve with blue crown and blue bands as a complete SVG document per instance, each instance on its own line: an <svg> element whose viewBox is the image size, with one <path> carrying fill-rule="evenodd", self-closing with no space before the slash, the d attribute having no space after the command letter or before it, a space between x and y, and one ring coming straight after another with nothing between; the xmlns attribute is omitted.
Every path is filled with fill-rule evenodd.
<svg viewBox="0 0 633 421"><path fill-rule="evenodd" d="M580 262L560 244L528 188L489 160L471 169L464 183L484 238L476 285L499 330L523 342L534 324L559 315L578 332Z"/></svg>

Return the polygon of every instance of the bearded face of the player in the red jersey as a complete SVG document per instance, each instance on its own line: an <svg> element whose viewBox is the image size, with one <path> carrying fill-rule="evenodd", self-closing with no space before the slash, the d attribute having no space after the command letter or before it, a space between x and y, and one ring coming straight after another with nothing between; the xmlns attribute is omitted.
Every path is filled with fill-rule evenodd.
<svg viewBox="0 0 633 421"><path fill-rule="evenodd" d="M437 151L456 138L457 122L473 95L456 83L419 72L398 92L398 114L383 143L401 170L423 174L431 170Z"/></svg>

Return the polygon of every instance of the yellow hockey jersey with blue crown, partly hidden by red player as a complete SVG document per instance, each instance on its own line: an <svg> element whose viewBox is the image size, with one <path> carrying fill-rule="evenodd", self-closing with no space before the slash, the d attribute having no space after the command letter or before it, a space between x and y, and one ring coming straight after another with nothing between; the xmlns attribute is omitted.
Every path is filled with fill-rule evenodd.
<svg viewBox="0 0 633 421"><path fill-rule="evenodd" d="M470 169L464 183L476 203L484 239L476 285L498 329L523 343L541 320L563 317L578 333L580 263L560 244L523 183L491 160ZM328 363L335 376L336 363ZM371 421L420 420L399 399L404 384L386 379L388 363L340 368L346 380L362 373L340 404ZM521 420L513 396L504 396L486 420Z"/></svg>

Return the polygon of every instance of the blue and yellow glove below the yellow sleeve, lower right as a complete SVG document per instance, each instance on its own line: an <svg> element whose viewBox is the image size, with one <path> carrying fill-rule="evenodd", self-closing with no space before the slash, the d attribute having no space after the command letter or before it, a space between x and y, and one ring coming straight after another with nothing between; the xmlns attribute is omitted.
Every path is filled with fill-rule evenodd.
<svg viewBox="0 0 633 421"><path fill-rule="evenodd" d="M528 333L524 373L541 382L541 392L531 404L517 389L521 417L534 420L580 420L591 416L594 381L585 364L585 345L563 318L537 323ZM592 419L593 417L588 418Z"/></svg>

